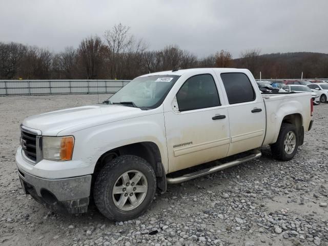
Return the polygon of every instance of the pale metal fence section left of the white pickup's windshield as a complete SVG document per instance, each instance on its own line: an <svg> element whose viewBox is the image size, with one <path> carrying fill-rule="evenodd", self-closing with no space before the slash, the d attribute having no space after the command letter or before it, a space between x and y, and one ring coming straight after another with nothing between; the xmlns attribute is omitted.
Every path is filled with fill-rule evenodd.
<svg viewBox="0 0 328 246"><path fill-rule="evenodd" d="M130 81L114 79L0 80L0 96L114 94Z"/></svg>

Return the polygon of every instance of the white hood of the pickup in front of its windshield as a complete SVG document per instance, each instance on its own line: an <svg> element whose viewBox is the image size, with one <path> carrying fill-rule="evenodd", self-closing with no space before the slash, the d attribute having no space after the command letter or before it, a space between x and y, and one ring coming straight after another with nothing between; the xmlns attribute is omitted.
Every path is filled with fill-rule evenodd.
<svg viewBox="0 0 328 246"><path fill-rule="evenodd" d="M146 110L118 105L92 105L33 115L23 125L42 131L42 135L56 136L63 130L70 132L145 114Z"/></svg>

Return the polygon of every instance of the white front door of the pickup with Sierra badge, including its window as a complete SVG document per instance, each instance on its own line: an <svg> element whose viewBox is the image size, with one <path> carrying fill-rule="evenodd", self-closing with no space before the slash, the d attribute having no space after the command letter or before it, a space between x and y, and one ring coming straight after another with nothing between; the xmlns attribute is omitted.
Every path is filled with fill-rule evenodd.
<svg viewBox="0 0 328 246"><path fill-rule="evenodd" d="M229 115L221 105L214 74L189 77L164 113L169 172L226 157ZM178 109L174 109L178 108Z"/></svg>

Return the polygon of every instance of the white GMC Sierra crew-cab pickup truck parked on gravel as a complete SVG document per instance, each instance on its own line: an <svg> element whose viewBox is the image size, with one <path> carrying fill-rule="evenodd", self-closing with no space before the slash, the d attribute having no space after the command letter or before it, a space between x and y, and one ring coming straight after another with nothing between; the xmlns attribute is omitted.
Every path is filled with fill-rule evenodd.
<svg viewBox="0 0 328 246"><path fill-rule="evenodd" d="M103 104L26 118L16 164L24 191L46 207L82 213L93 198L107 218L124 221L145 211L156 189L258 158L261 146L292 159L312 112L311 93L261 94L246 69L152 73Z"/></svg>

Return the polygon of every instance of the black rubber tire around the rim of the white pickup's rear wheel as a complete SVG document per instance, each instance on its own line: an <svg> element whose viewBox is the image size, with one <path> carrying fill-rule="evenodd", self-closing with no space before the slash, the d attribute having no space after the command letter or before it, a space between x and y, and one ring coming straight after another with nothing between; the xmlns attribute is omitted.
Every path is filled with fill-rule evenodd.
<svg viewBox="0 0 328 246"><path fill-rule="evenodd" d="M296 136L295 149L290 154L286 153L284 148L284 139L289 132L293 132ZM297 135L296 127L292 124L282 123L277 141L270 146L272 156L277 160L283 160L283 161L291 160L295 156L298 146L299 146L299 136Z"/></svg>

